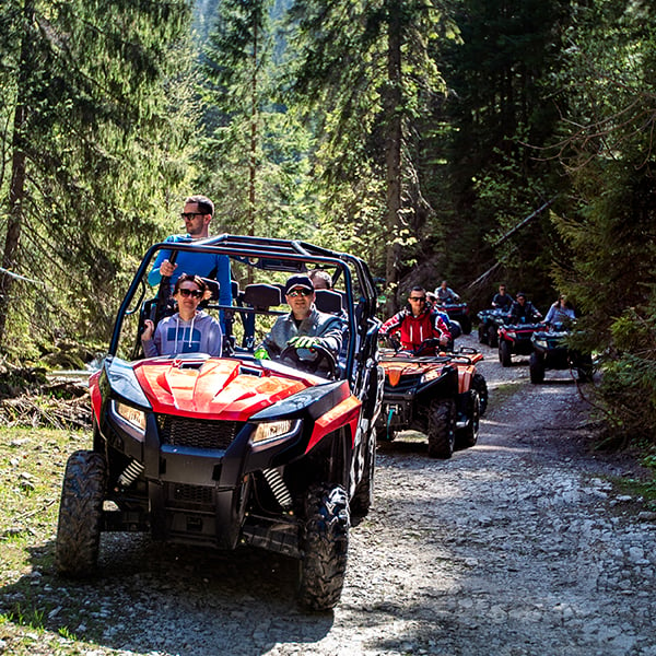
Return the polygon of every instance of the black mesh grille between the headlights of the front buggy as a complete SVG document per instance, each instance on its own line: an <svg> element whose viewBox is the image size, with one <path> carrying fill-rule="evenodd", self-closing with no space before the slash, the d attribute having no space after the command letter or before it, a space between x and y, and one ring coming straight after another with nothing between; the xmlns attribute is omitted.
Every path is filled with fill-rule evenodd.
<svg viewBox="0 0 656 656"><path fill-rule="evenodd" d="M171 414L157 417L162 444L225 450L244 426L237 421L207 421Z"/></svg>

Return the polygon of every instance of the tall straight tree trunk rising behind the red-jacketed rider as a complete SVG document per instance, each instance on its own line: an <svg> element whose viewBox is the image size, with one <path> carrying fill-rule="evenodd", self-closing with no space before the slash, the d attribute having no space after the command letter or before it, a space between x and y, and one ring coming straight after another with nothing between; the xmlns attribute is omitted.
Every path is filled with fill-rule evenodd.
<svg viewBox="0 0 656 656"><path fill-rule="evenodd" d="M402 224L402 180L401 180L401 22L399 9L395 2L388 4L389 27L387 33L387 89L384 107L387 126L385 141L385 161L387 169L387 232L389 238L385 277L389 293L387 295L387 313L398 311L398 281L400 270L401 246L399 232Z"/></svg>

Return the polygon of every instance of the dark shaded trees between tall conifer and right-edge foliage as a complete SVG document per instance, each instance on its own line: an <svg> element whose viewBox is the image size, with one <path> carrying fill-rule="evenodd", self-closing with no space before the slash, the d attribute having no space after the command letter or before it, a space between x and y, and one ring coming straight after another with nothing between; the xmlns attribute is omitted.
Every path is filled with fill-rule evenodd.
<svg viewBox="0 0 656 656"><path fill-rule="evenodd" d="M553 294L550 259L562 250L548 215L496 243L566 189L542 149L555 139L569 3L464 0L455 7L462 43L442 56L450 93L438 114L444 127L431 142L444 159L424 173L441 181L433 191L438 200L429 198L437 215L426 250L435 251L438 277L456 288L494 267L512 291L523 288L544 303ZM481 292L489 303L493 285Z"/></svg>

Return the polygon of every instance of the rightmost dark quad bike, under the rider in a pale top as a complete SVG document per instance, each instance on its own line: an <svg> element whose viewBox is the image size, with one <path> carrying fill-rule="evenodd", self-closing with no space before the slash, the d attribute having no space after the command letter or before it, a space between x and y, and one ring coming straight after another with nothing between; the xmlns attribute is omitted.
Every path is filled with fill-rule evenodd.
<svg viewBox="0 0 656 656"><path fill-rule="evenodd" d="M543 383L546 370L576 371L581 383L591 378L593 358L589 353L581 353L570 348L570 335L571 327L563 324L543 326L541 330L532 333L534 352L528 362L531 383Z"/></svg>

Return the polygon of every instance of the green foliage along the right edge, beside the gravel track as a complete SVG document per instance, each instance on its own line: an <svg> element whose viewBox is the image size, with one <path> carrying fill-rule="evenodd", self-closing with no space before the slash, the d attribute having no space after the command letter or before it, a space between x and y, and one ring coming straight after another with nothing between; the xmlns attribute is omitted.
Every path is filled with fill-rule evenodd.
<svg viewBox="0 0 656 656"><path fill-rule="evenodd" d="M574 186L554 224L572 250L555 270L600 353L600 399L622 442L656 429L656 119L654 9L644 2L577 8L563 83L559 156Z"/></svg>

